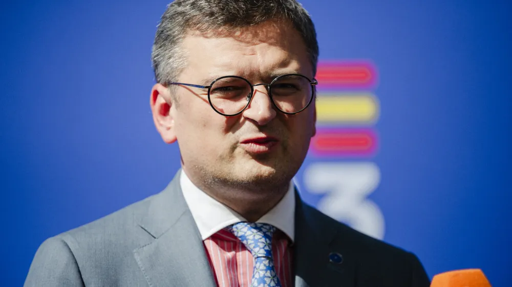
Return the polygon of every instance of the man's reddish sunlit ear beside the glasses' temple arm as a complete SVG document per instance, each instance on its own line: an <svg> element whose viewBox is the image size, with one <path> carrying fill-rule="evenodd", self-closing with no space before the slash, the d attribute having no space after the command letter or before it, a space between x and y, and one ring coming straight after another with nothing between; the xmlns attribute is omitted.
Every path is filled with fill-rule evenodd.
<svg viewBox="0 0 512 287"><path fill-rule="evenodd" d="M172 115L173 97L171 97L169 89L162 84L155 84L151 89L150 105L155 127L163 141L175 142L177 138Z"/></svg>

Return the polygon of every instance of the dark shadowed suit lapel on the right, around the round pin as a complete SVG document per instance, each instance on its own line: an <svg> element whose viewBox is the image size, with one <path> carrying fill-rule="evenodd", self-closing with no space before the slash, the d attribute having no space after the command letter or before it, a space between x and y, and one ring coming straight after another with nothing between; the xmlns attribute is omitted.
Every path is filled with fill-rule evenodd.
<svg viewBox="0 0 512 287"><path fill-rule="evenodd" d="M298 193L295 198L295 286L355 286L355 262L347 258L349 250L336 243L335 222L302 202ZM330 262L331 253L342 255L342 263Z"/></svg>

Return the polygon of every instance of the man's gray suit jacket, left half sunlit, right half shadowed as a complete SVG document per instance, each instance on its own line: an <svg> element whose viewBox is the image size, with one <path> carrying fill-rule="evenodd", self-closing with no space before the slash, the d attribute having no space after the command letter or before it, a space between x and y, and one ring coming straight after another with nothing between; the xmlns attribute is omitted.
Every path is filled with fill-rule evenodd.
<svg viewBox="0 0 512 287"><path fill-rule="evenodd" d="M177 174L179 175L179 173ZM419 260L296 196L295 286L428 287ZM342 262L330 262L339 253ZM159 194L46 240L25 286L215 286L179 176Z"/></svg>

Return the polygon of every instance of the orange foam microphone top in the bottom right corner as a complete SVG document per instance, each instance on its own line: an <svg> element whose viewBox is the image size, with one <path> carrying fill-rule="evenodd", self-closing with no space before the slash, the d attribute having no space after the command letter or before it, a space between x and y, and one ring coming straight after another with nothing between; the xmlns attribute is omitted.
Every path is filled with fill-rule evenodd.
<svg viewBox="0 0 512 287"><path fill-rule="evenodd" d="M430 287L491 287L480 269L463 269L437 274Z"/></svg>

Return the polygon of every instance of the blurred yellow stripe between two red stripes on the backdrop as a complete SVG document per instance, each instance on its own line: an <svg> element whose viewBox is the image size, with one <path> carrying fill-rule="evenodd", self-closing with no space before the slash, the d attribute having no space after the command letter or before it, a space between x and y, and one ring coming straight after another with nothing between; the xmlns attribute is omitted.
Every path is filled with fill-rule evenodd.
<svg viewBox="0 0 512 287"><path fill-rule="evenodd" d="M371 93L319 93L316 101L318 122L374 123L379 109Z"/></svg>

